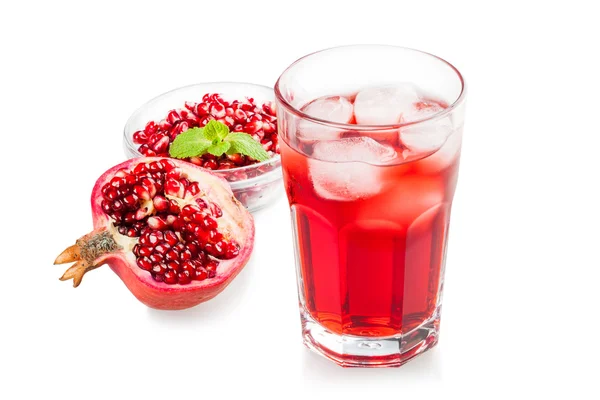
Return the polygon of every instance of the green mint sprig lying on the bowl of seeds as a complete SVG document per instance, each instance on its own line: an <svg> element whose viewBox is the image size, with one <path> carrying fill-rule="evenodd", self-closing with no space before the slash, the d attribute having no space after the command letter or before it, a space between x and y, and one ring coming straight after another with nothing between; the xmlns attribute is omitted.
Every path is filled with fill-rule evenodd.
<svg viewBox="0 0 600 400"><path fill-rule="evenodd" d="M169 155L173 158L199 157L206 153L217 157L225 153L239 153L258 161L269 159L269 153L252 136L244 132L229 132L227 125L215 120L204 128L191 128L180 133L169 148Z"/></svg>

